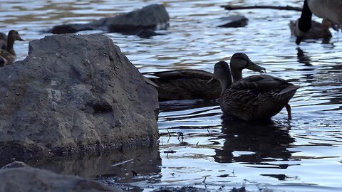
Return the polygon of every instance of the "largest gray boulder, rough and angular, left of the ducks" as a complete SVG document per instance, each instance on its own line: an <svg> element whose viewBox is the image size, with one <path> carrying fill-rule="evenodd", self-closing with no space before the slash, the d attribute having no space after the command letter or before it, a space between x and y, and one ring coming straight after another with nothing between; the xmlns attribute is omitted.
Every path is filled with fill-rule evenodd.
<svg viewBox="0 0 342 192"><path fill-rule="evenodd" d="M0 69L0 158L157 142L157 91L103 35L31 41Z"/></svg>

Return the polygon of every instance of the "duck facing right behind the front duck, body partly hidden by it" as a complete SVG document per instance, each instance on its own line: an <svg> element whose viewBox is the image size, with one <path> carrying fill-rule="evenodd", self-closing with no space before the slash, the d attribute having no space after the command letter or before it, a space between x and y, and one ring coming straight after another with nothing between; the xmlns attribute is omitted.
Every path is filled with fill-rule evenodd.
<svg viewBox="0 0 342 192"><path fill-rule="evenodd" d="M259 73L265 71L265 68L253 63L244 53L232 55L230 67L234 81L242 79L242 70L245 68ZM214 100L221 94L219 81L213 80L210 85L207 84L213 75L205 70L180 69L143 73L143 75L148 76L147 79L157 88L159 101Z"/></svg>

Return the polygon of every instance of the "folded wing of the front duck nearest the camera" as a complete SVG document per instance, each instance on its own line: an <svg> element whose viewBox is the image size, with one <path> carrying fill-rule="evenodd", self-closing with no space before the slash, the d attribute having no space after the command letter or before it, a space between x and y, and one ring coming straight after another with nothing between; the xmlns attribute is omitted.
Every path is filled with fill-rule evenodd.
<svg viewBox="0 0 342 192"><path fill-rule="evenodd" d="M252 90L257 92L269 92L280 85L287 84L289 80L276 78L271 75L252 75L235 82L232 88L235 90Z"/></svg>

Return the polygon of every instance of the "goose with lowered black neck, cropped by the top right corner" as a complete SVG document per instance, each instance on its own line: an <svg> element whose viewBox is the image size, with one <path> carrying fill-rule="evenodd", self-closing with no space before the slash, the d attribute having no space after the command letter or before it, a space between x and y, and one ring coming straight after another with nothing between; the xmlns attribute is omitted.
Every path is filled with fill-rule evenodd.
<svg viewBox="0 0 342 192"><path fill-rule="evenodd" d="M299 45L306 32L311 28L312 14L323 18L325 26L337 23L342 27L342 1L340 0L305 0L301 17L296 22L296 44Z"/></svg>

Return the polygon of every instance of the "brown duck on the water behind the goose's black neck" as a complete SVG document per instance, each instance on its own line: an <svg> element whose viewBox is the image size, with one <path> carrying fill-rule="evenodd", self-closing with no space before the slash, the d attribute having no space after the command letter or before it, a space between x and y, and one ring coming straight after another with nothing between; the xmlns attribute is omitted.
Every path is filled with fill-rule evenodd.
<svg viewBox="0 0 342 192"><path fill-rule="evenodd" d="M296 21L290 21L289 27L291 30L291 36L297 36L296 33ZM331 32L328 28L324 28L321 23L311 21L311 28L305 34L304 39L318 39L318 38L331 38Z"/></svg>

